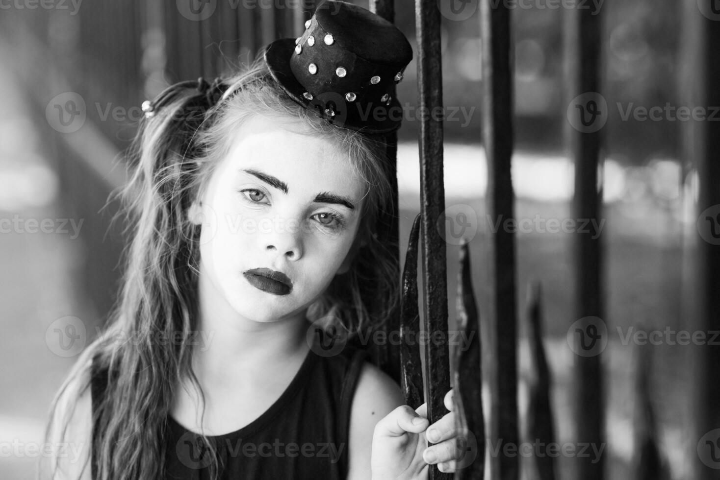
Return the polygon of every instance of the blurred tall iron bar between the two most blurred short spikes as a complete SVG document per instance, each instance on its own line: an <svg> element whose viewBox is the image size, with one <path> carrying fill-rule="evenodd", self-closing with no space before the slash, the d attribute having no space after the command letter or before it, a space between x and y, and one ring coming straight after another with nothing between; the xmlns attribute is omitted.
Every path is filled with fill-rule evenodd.
<svg viewBox="0 0 720 480"><path fill-rule="evenodd" d="M564 40L567 55L567 91L570 99L585 93L597 93L600 88L601 13L588 9L567 9ZM590 108L588 103L587 108ZM600 216L602 194L598 193L598 164L600 161L600 131L570 132L571 159L575 163L575 195L572 200L574 218L597 220ZM576 234L575 250L575 317L595 316L603 319L601 237ZM575 424L577 442L604 443L603 375L600 356L574 357ZM577 458L576 478L603 479L603 456L592 463L589 458Z"/></svg>

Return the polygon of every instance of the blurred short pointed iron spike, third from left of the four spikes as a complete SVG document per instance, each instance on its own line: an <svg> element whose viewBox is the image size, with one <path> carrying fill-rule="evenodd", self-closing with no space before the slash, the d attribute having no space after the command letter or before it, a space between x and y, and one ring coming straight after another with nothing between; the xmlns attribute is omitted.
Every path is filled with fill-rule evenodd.
<svg viewBox="0 0 720 480"><path fill-rule="evenodd" d="M530 363L533 374L528 392L528 434L531 442L539 441L549 445L555 441L554 415L550 404L550 369L542 343L542 303L541 285L536 282L529 290L528 333L530 343ZM536 440L537 439L537 440ZM539 480L554 480L555 459L550 455L536 456L535 467Z"/></svg>

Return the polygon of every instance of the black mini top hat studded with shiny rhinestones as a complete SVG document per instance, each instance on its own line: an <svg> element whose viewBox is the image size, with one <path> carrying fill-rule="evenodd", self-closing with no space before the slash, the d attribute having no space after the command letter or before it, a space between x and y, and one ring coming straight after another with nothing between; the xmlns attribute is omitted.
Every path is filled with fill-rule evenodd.
<svg viewBox="0 0 720 480"><path fill-rule="evenodd" d="M273 78L297 103L332 124L366 133L400 128L402 107L390 88L413 49L395 25L345 1L327 0L297 39L265 50Z"/></svg>

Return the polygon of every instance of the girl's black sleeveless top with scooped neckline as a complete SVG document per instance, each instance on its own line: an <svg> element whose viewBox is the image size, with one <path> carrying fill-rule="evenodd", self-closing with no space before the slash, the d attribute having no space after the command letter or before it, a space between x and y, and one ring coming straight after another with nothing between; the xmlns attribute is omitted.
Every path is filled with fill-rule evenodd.
<svg viewBox="0 0 720 480"><path fill-rule="evenodd" d="M347 345L337 355L312 349L279 399L240 430L208 437L166 417L165 480L210 479L217 458L218 479L345 479L348 473L348 429L351 402L367 352ZM107 385L107 371L91 382L93 411ZM93 451L96 451L93 432ZM96 479L95 458L91 462Z"/></svg>

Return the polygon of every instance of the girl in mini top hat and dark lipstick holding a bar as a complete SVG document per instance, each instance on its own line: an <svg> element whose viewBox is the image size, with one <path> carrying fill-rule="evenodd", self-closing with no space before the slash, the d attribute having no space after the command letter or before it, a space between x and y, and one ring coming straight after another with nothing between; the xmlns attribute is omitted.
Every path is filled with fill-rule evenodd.
<svg viewBox="0 0 720 480"><path fill-rule="evenodd" d="M48 430L82 456L55 456L48 478L454 470L452 413L428 428L426 406L402 405L364 350L327 349L326 332L377 327L397 301L373 228L392 200L375 134L399 124L360 114L397 106L382 89L402 79L410 46L339 1L306 27L246 72L179 83L144 105L122 191L137 221L119 304Z"/></svg>

